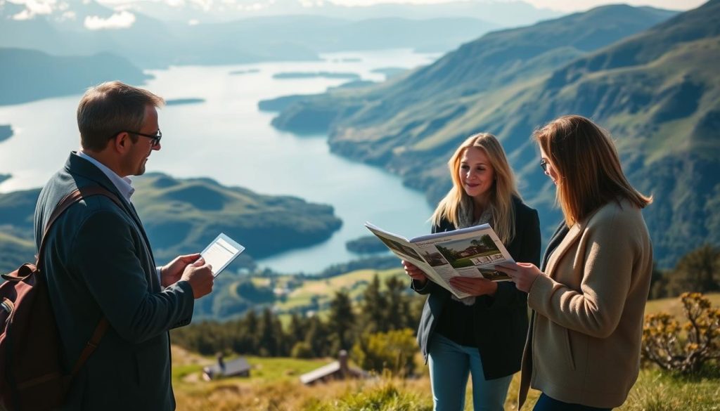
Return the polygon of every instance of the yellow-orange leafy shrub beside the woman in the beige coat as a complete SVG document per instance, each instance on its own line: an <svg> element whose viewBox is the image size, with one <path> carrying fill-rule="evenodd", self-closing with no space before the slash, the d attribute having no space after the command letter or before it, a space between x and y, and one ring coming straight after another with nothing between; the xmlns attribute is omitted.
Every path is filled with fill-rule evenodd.
<svg viewBox="0 0 720 411"><path fill-rule="evenodd" d="M688 322L662 312L645 316L642 358L668 371L698 374L705 363L720 358L720 309L701 293L680 296Z"/></svg>

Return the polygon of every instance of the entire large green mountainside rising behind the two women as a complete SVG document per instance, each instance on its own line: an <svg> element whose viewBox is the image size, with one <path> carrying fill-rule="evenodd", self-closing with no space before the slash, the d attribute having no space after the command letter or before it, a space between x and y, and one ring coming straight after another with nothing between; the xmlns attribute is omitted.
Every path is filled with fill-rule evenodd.
<svg viewBox="0 0 720 411"><path fill-rule="evenodd" d="M605 6L490 33L372 91L295 102L274 124L302 124L304 112L334 107L325 127L336 153L399 173L432 204L449 188L446 160L456 145L492 132L547 238L559 212L528 137L562 114L592 117L613 134L631 181L654 194L644 214L657 261L669 267L688 250L720 243L720 1L665 17ZM625 30L608 37L606 27Z"/></svg>

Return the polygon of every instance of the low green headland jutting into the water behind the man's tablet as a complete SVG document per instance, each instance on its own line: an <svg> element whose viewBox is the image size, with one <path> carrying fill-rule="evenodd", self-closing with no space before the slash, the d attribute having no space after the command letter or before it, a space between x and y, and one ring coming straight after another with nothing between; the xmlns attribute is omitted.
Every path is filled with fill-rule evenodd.
<svg viewBox="0 0 720 411"><path fill-rule="evenodd" d="M157 263L202 250L220 232L247 250L233 263L320 243L341 226L333 207L297 197L265 196L210 179L148 173L134 180L132 198L145 223ZM31 261L32 214L40 189L0 194L0 271Z"/></svg>

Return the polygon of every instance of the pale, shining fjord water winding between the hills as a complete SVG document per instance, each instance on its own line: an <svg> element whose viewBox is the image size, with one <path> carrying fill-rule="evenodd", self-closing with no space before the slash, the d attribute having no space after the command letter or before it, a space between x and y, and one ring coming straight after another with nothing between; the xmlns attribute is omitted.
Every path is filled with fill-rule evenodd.
<svg viewBox="0 0 720 411"><path fill-rule="evenodd" d="M314 273L357 258L347 252L345 243L369 235L365 221L401 235L425 234L432 210L423 194L402 186L397 176L330 153L325 135L298 136L275 130L270 125L274 114L260 112L257 104L261 99L289 94L319 93L345 81L275 79L275 73L357 73L364 80L382 81L384 75L372 70L413 68L431 63L433 57L410 50L383 50L332 53L312 62L150 71L155 78L141 86L168 100L204 101L161 109L162 149L150 155L147 170L179 178L210 177L261 194L291 195L332 205L343 220L332 238L259 261L279 272ZM12 137L0 143L0 174L13 176L0 184L0 191L41 186L63 165L68 153L78 148L75 110L79 98L78 94L0 107L0 124L10 124L14 130Z"/></svg>

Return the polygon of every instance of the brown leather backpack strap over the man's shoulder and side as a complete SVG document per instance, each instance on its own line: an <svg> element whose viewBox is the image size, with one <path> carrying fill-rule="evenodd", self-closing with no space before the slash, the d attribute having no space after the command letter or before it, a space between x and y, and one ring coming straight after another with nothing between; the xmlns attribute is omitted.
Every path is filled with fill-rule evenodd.
<svg viewBox="0 0 720 411"><path fill-rule="evenodd" d="M48 224L45 225L45 230L42 232L42 240L40 240L40 250L38 250L37 252L37 262L35 263L35 266L37 266L38 270L40 270L40 263L42 263L41 260L43 256L43 251L45 250L45 235L47 235L50 231L50 227L53 226L55 221L58 220L58 217L60 217L60 215L63 214L63 212L68 209L68 207L75 204L76 202L79 202L81 199L98 195L108 197L115 204L117 204L117 207L120 207L120 209L125 209L124 207L122 207L122 202L120 202L120 199L117 198L117 195L102 186L86 186L81 189L75 189L70 194L63 197L63 199L60 200L58 205L53 210L53 214L50 214L50 220L48 220ZM73 377L78 374L78 371L80 371L85 361L87 361L93 351L95 351L95 348L97 348L97 345L99 345L102 336L107 331L108 326L109 322L107 321L107 317L102 317L98 325L95 327L95 330L93 331L90 340L85 345L85 348L83 348L83 351L80 353L80 358L78 358L78 361L76 361L75 366L73 367L73 371L68 376L68 385L73 379Z"/></svg>

